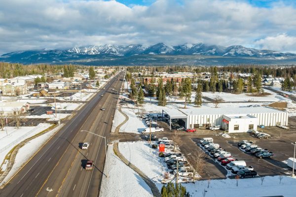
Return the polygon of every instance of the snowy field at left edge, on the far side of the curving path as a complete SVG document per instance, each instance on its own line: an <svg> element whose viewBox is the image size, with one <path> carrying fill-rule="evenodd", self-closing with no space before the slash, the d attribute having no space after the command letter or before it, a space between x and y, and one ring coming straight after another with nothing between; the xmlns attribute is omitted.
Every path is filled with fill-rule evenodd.
<svg viewBox="0 0 296 197"><path fill-rule="evenodd" d="M0 131L0 164L2 164L6 154L18 143L27 139L43 130L49 128L51 124L40 123L36 127L5 127L4 131ZM6 135L6 130L7 134ZM6 167L2 166L2 170Z"/></svg>

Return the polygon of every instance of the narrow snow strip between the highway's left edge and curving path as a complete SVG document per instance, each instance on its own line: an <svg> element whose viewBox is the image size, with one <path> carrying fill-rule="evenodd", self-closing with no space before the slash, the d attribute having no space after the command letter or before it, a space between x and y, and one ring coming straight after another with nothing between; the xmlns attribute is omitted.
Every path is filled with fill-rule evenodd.
<svg viewBox="0 0 296 197"><path fill-rule="evenodd" d="M64 124L61 124L60 126L54 128L51 131L48 131L35 139L32 139L28 143L26 143L23 147L21 147L16 154L15 161L13 164L13 167L7 174L7 176L4 178L4 182L8 181L11 176L13 176L14 173L19 170L19 168L25 164L35 153L39 148L52 136L54 135L57 131L59 131ZM40 131L38 131L40 132ZM0 183L2 185L2 183Z"/></svg>

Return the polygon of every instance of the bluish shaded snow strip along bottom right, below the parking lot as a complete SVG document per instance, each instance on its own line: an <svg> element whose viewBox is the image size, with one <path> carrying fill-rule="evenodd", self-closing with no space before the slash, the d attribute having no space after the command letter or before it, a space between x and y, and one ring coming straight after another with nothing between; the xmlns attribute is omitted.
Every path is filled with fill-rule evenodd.
<svg viewBox="0 0 296 197"><path fill-rule="evenodd" d="M260 178L239 179L236 186L236 179L216 179L196 181L183 184L190 197L227 197L231 195L240 197L266 197L266 196L284 196L295 197L296 179L289 176L283 176L280 184L280 176L266 176L261 185ZM157 185L161 190L161 185ZM205 192L206 191L206 192ZM206 193L205 196L203 193Z"/></svg>

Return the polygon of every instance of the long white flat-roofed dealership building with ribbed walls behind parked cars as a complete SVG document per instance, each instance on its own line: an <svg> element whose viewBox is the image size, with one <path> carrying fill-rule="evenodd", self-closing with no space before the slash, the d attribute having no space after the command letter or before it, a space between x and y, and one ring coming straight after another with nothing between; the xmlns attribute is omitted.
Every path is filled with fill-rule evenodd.
<svg viewBox="0 0 296 197"><path fill-rule="evenodd" d="M228 132L247 132L257 130L259 125L265 127L288 125L288 112L270 107L194 107L187 109L164 109L170 123L178 119L185 129L206 128L220 125ZM171 124L170 124L171 128Z"/></svg>

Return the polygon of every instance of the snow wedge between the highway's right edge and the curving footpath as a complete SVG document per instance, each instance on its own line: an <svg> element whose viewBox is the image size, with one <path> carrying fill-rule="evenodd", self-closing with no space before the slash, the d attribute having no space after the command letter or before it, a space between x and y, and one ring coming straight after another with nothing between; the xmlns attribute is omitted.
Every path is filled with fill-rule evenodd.
<svg viewBox="0 0 296 197"><path fill-rule="evenodd" d="M124 164L108 147L109 177L103 176L100 196L102 197L152 197L145 181L130 167ZM107 168L104 168L106 174Z"/></svg>

